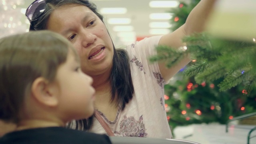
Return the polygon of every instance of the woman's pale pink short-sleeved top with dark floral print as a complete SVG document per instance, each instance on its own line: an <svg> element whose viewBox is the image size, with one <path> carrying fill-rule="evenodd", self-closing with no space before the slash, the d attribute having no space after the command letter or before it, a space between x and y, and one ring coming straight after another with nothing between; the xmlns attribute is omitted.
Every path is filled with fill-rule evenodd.
<svg viewBox="0 0 256 144"><path fill-rule="evenodd" d="M155 46L160 38L161 36L145 38L126 48L130 57L133 98L123 111L118 110L116 119L112 122L100 112L115 136L172 138L164 109L165 82L158 63L150 63L148 60L156 54ZM96 118L90 131L106 134Z"/></svg>

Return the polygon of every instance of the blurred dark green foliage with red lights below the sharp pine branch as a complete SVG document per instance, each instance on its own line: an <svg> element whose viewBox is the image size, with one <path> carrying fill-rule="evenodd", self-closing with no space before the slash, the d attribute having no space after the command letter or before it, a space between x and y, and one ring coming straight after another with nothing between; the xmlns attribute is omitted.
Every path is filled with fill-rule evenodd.
<svg viewBox="0 0 256 144"><path fill-rule="evenodd" d="M165 93L169 96L165 102L170 107L167 116L170 116L169 124L172 130L176 126L189 124L212 122L225 124L230 116L256 112L255 88L249 96L243 93L243 85L220 92L217 85L223 81L223 78L196 84L193 77L183 76L182 72L178 73L176 77L181 79L165 86ZM191 88L188 88L189 84L193 84ZM242 107L245 110L241 110ZM186 114L182 114L183 110ZM201 115L196 114L196 110L200 110Z"/></svg>

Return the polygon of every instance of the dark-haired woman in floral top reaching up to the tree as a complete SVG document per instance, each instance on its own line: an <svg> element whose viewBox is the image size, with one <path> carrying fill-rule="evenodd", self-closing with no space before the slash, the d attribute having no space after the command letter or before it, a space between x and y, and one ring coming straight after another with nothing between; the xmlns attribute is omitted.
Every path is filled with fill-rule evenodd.
<svg viewBox="0 0 256 144"><path fill-rule="evenodd" d="M201 32L215 0L201 0L178 30L115 49L96 6L88 0L36 0L27 9L30 30L51 30L75 46L82 71L93 78L96 116L71 122L80 130L112 136L172 138L164 110L164 84L188 62L189 57L167 69L151 64L156 45L178 48L182 38ZM103 120L102 120L103 119ZM105 126L105 129L104 129ZM110 132L109 132L110 131Z"/></svg>

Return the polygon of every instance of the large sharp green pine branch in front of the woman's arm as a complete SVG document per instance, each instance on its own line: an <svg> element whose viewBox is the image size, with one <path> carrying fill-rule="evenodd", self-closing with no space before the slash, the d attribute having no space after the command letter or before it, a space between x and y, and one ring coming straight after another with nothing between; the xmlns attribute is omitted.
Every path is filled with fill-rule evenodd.
<svg viewBox="0 0 256 144"><path fill-rule="evenodd" d="M183 42L186 44L186 50L184 47L158 46L158 54L150 58L150 61L165 61L166 67L170 68L190 54L191 59L196 62L190 64L184 74L188 77L194 76L197 83L224 78L218 84L220 91L245 84L248 93L255 86L255 42L226 40L207 33L187 36Z"/></svg>

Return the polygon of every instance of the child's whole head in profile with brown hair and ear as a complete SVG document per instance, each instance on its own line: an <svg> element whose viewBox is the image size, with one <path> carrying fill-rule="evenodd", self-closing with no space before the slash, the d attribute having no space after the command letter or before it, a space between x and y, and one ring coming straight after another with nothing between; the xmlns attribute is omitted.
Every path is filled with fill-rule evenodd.
<svg viewBox="0 0 256 144"><path fill-rule="evenodd" d="M94 112L91 85L61 35L36 31L0 39L0 119L88 118Z"/></svg>

